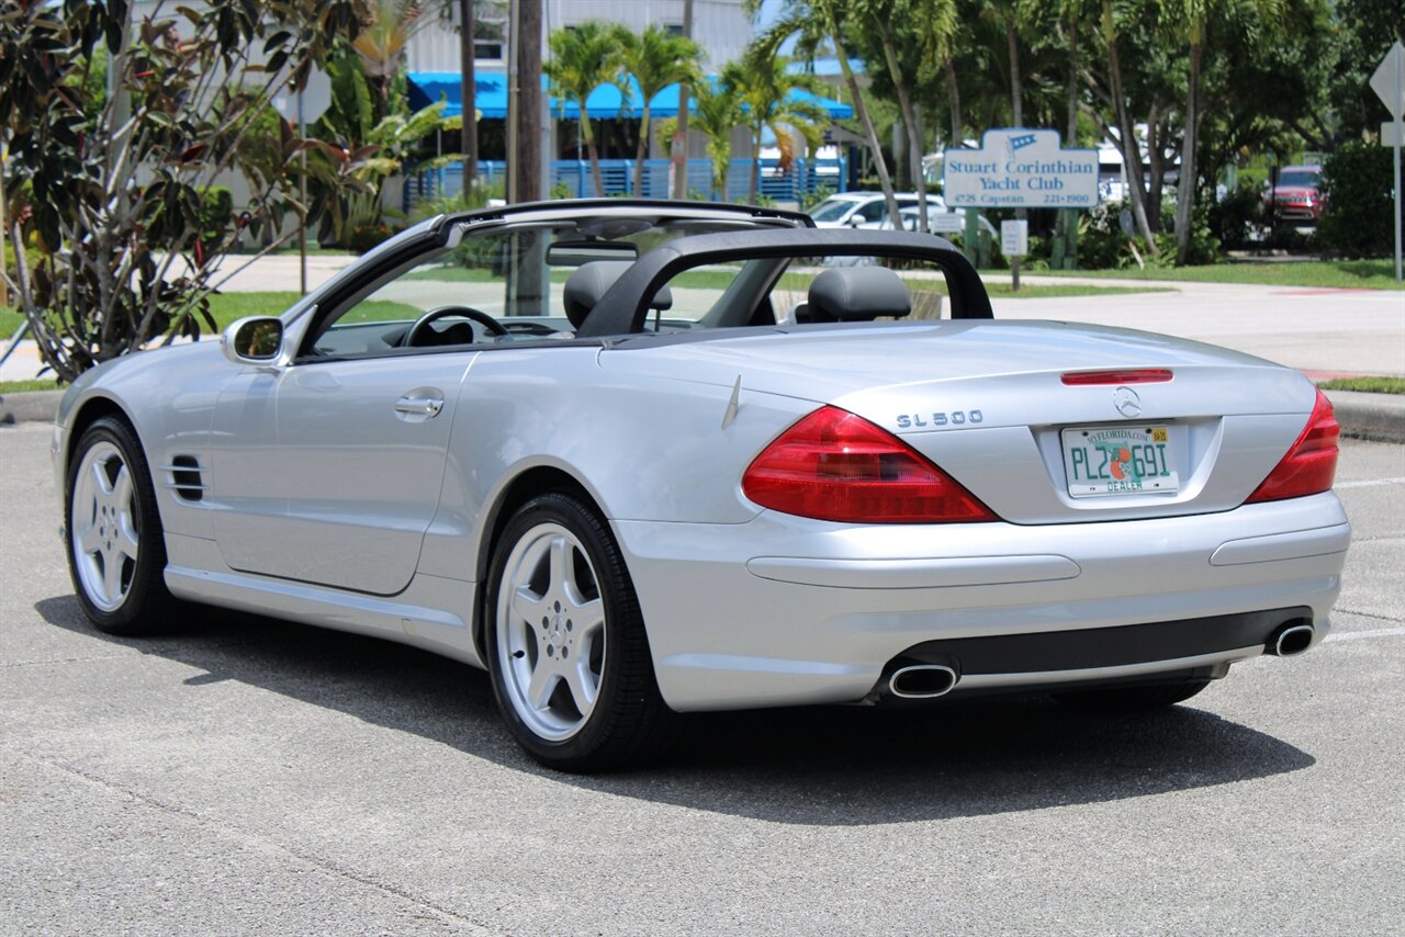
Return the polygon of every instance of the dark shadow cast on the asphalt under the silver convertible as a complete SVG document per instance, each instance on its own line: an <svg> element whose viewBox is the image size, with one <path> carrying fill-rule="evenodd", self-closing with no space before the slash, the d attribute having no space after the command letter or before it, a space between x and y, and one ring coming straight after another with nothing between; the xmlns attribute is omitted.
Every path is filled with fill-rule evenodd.
<svg viewBox="0 0 1405 937"><path fill-rule="evenodd" d="M1047 697L916 709L823 707L707 714L667 760L594 777L541 768L511 742L488 674L391 642L222 610L178 629L115 638L73 596L49 624L204 673L414 733L559 784L754 819L863 826L1009 813L1229 784L1315 763L1270 735L1191 705L1093 716ZM1214 701L1215 687L1205 691Z"/></svg>

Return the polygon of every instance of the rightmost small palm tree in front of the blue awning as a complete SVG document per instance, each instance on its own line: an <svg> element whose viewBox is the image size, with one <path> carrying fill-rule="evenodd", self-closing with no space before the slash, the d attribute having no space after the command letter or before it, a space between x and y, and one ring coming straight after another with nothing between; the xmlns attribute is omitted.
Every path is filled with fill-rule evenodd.
<svg viewBox="0 0 1405 937"><path fill-rule="evenodd" d="M770 129L778 142L784 142L785 128L794 128L811 148L819 146L821 125L828 119L825 108L811 101L797 100L797 90L815 91L818 81L812 74L790 74L785 66L790 59L781 55L766 55L752 48L740 62L722 69L722 83L733 90L742 104L742 122L752 132L752 155L756 164L749 173L746 201L756 201L757 176L760 174L762 135Z"/></svg>

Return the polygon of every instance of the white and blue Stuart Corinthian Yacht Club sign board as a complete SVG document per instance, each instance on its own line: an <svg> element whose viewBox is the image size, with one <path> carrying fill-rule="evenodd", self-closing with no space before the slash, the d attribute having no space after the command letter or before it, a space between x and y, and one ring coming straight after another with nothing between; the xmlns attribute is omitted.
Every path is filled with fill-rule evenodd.
<svg viewBox="0 0 1405 937"><path fill-rule="evenodd" d="M986 131L978 150L948 149L943 197L951 208L1092 208L1097 150L1066 150L1058 131Z"/></svg>

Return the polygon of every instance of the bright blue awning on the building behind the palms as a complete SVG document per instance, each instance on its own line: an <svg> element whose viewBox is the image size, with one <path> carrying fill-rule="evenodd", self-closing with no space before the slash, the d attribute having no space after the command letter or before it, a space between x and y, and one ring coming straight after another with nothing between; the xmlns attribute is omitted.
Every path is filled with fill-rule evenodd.
<svg viewBox="0 0 1405 937"><path fill-rule="evenodd" d="M459 97L458 72L410 72L409 79L412 108L420 110L422 107L429 107L443 97L445 101L444 117L458 117L464 112L464 104ZM715 81L717 76L711 74L708 80ZM639 119L643 115L642 94L634 79L629 80L629 97L625 100L620 89L611 84L601 84L586 98L586 114L592 119ZM547 76L541 77L541 89L545 93ZM482 119L502 121L507 118L506 74L502 72L475 70L473 96L473 104ZM830 98L819 97L799 89L791 91L791 100L819 104L829 114L829 118L835 121L847 119L854 115L854 108L847 104L840 104L839 101L832 101ZM561 103L552 97L549 104L552 117L568 121L580 119L580 107L575 101L568 101L565 108L562 108ZM691 111L695 103L688 101L688 110ZM653 96L653 100L649 103L649 117L677 117L677 114L679 86L670 84Z"/></svg>

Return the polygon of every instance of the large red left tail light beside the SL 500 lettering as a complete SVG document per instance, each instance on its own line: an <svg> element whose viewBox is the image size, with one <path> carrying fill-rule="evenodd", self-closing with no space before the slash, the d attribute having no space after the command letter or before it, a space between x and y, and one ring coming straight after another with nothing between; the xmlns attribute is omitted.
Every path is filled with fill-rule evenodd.
<svg viewBox="0 0 1405 937"><path fill-rule="evenodd" d="M767 445L742 476L742 490L763 507L823 521L999 520L896 435L830 406L815 410Z"/></svg>

